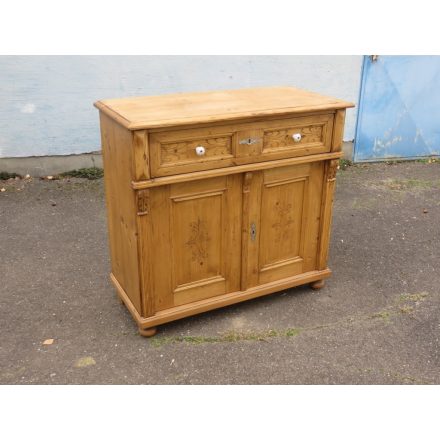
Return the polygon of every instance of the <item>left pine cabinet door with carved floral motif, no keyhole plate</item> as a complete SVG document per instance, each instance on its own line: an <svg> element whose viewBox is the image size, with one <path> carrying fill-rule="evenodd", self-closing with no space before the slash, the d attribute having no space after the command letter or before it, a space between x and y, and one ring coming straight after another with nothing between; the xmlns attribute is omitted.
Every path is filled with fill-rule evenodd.
<svg viewBox="0 0 440 440"><path fill-rule="evenodd" d="M151 189L156 311L240 290L241 182L236 174Z"/></svg>

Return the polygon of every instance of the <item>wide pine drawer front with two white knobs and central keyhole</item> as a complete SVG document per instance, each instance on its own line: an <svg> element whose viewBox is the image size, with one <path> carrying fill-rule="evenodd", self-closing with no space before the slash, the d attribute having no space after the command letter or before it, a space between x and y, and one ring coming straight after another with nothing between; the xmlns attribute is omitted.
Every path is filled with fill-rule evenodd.
<svg viewBox="0 0 440 440"><path fill-rule="evenodd" d="M150 134L151 175L170 176L331 150L333 114ZM295 141L293 135L299 135ZM202 154L197 148L202 147Z"/></svg>

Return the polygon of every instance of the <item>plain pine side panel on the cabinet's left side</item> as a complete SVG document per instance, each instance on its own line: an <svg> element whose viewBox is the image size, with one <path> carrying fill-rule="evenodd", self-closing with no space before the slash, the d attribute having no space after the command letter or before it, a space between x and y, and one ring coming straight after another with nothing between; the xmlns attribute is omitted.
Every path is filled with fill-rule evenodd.
<svg viewBox="0 0 440 440"><path fill-rule="evenodd" d="M132 133L100 113L112 273L141 313Z"/></svg>

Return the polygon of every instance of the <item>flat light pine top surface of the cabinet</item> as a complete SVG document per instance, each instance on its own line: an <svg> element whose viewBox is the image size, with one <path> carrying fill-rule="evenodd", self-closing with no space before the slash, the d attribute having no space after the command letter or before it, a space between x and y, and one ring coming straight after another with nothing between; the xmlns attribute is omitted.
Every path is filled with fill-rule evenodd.
<svg viewBox="0 0 440 440"><path fill-rule="evenodd" d="M293 87L261 87L105 99L97 107L130 130L354 107Z"/></svg>

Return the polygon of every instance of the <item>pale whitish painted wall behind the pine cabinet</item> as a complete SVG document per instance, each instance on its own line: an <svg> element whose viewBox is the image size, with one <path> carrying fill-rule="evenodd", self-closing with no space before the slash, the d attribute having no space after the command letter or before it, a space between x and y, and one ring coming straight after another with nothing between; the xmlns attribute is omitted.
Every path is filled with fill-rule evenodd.
<svg viewBox="0 0 440 440"><path fill-rule="evenodd" d="M291 85L357 104L361 56L1 56L0 157L100 149L94 101ZM349 109L345 140L354 138Z"/></svg>

